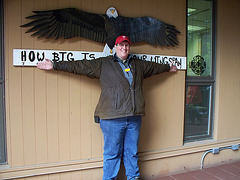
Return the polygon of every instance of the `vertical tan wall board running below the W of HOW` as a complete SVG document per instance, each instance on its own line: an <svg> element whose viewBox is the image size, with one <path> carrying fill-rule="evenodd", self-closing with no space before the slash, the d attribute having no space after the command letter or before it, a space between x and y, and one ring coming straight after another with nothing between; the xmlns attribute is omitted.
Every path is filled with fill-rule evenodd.
<svg viewBox="0 0 240 180"><path fill-rule="evenodd" d="M46 0L41 2L31 1L26 2L32 5L32 9L36 10L38 8L45 9ZM22 6L22 10L25 12L26 16L29 16L29 9L25 9L25 6ZM27 22L26 20L24 22ZM23 23L24 23L23 22ZM23 31L24 32L24 31ZM26 34L26 33L25 33ZM29 37L27 34L23 41L32 42L32 48L36 47L43 49L46 45L44 42L37 41L35 38ZM26 49L31 49L31 46L25 47ZM47 118L46 118L46 106L47 106L47 96L46 96L46 79L47 74L43 73L36 68L32 68L34 71L34 121L35 121L35 148L36 148L36 163L47 163L48 154L47 154Z"/></svg>

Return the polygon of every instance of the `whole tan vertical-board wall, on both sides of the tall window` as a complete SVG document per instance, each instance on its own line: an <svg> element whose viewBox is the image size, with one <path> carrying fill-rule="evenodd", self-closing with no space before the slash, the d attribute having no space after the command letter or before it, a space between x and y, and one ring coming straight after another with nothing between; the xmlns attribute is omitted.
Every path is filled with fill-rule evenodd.
<svg viewBox="0 0 240 180"><path fill-rule="evenodd" d="M8 165L0 178L101 179L103 140L93 111L98 80L33 67L14 67L13 49L102 51L100 43L74 38L44 40L25 34L21 24L33 10L76 7L105 13L114 6L122 16L152 16L174 24L180 45L159 48L144 43L132 52L186 56L185 0L5 0L5 74ZM200 168L202 154L213 147L240 143L240 13L238 0L218 1L214 139L183 145L185 72L165 73L144 82L146 116L140 139L144 178ZM239 152L206 157L207 165L239 158ZM189 159L191 161L189 162ZM63 173L65 172L65 173ZM23 178L21 178L23 179ZM124 179L123 171L120 179Z"/></svg>

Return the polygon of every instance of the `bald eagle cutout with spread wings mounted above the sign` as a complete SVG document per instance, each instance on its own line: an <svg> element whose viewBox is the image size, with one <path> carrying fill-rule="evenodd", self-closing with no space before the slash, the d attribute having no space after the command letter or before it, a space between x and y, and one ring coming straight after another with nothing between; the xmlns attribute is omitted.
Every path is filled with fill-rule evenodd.
<svg viewBox="0 0 240 180"><path fill-rule="evenodd" d="M178 44L177 34L180 33L175 26L149 16L118 16L114 7L110 7L106 14L76 8L33 12L35 15L26 17L32 21L21 26L31 27L26 33L33 32L32 36L55 39L83 37L105 43L110 49L113 49L120 35L128 36L132 43L175 46Z"/></svg>

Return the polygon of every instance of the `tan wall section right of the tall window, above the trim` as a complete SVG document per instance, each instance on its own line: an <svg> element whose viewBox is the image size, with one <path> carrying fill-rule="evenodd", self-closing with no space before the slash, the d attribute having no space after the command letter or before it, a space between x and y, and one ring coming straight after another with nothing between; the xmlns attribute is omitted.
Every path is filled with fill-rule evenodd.
<svg viewBox="0 0 240 180"><path fill-rule="evenodd" d="M233 4L236 4L233 6ZM237 10L240 2L231 0L220 1L218 4L218 39L217 39L217 66L218 69L218 134L217 138L232 139L240 136L239 132L239 102L240 102L240 17ZM228 15L228 16L226 16ZM231 27L231 36L229 28Z"/></svg>

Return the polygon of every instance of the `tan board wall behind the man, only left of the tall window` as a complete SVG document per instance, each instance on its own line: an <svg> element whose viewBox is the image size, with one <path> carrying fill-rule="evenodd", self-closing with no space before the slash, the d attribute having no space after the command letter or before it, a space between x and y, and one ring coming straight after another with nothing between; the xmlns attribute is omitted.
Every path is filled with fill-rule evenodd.
<svg viewBox="0 0 240 180"><path fill-rule="evenodd" d="M103 138L99 124L93 119L100 95L98 80L34 67L14 67L12 51L15 48L102 51L104 45L83 38L54 41L32 37L25 33L28 28L19 27L28 22L25 17L32 15L33 10L65 7L104 14L108 7L114 6L119 15L152 16L176 25L182 32L179 46L160 48L137 43L132 52L185 56L186 2L178 1L178 7L174 3L174 0L5 0L9 164L6 174L46 173L36 178L49 180L102 176ZM185 72L181 71L144 82L146 116L141 130L142 153L182 145L184 81ZM71 172L74 168L76 171ZM58 174L61 171L66 173ZM48 176L49 173L53 174Z"/></svg>

